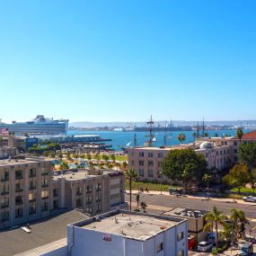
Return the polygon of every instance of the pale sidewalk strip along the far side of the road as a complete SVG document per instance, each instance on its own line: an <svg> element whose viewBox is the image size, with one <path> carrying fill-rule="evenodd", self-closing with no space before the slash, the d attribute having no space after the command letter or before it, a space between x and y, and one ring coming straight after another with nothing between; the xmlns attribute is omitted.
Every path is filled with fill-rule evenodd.
<svg viewBox="0 0 256 256"><path fill-rule="evenodd" d="M127 190L128 193L128 190ZM169 196L169 197L177 197L176 195L170 195L169 192L166 191L149 191L147 192L138 192L137 190L132 190L132 194L146 194L146 195L164 195L164 196ZM187 199L199 199L199 200L207 200L207 198L205 197L196 197L196 196L190 196L190 195L182 195L182 196L178 196L178 197L186 197ZM216 199L216 198L210 198L210 200L212 201L219 201L219 202L225 202L225 203L233 203L233 199ZM255 203L250 203L250 202L245 202L242 199L235 199L235 202L238 204L242 204L242 205L249 205L249 206L256 206Z"/></svg>

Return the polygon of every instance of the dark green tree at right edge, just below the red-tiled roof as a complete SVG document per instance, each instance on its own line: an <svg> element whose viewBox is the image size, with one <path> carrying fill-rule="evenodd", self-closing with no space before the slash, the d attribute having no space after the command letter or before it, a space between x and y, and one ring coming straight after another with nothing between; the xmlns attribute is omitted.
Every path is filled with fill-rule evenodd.
<svg viewBox="0 0 256 256"><path fill-rule="evenodd" d="M238 160L246 163L251 170L256 168L256 141L242 143L238 147Z"/></svg>

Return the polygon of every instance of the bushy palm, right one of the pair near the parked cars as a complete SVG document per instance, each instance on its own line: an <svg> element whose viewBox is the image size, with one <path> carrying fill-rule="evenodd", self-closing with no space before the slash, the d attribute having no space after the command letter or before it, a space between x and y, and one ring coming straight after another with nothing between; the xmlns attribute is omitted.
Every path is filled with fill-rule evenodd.
<svg viewBox="0 0 256 256"><path fill-rule="evenodd" d="M230 220L233 224L236 238L241 238L245 232L245 225L249 224L249 221L245 217L243 210L232 208L230 212Z"/></svg>

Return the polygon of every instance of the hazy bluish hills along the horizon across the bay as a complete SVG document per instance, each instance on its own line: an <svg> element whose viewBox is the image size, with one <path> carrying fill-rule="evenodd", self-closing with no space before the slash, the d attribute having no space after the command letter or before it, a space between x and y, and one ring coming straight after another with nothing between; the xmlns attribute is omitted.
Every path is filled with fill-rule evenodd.
<svg viewBox="0 0 256 256"><path fill-rule="evenodd" d="M167 122L169 123L169 121ZM172 120L172 124L174 127L177 126L196 126L198 121L186 121L186 120ZM154 126L164 126L165 121L159 120L154 122ZM256 128L256 120L222 120L222 121L205 121L206 126L227 126L227 127L240 127L241 124L243 127L255 127ZM202 125L202 121L199 121L199 125ZM89 121L81 121L81 122L74 122L70 123L69 127L73 128L103 128L103 127L145 127L146 122L89 122Z"/></svg>

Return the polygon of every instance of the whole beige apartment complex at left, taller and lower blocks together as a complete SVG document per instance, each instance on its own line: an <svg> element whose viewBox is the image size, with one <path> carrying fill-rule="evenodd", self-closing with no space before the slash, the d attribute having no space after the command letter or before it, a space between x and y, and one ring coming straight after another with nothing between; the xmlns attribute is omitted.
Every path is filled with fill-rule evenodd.
<svg viewBox="0 0 256 256"><path fill-rule="evenodd" d="M57 174L42 157L0 161L0 229L47 217L57 208L96 215L125 201L124 174L74 170Z"/></svg>

